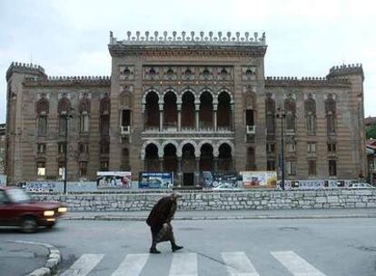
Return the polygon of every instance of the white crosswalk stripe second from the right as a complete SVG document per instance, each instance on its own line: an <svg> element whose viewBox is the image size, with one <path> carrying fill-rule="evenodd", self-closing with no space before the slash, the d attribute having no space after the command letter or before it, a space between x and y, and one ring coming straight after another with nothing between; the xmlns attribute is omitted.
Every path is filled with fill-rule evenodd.
<svg viewBox="0 0 376 276"><path fill-rule="evenodd" d="M244 252L223 252L222 258L231 276L260 276Z"/></svg>

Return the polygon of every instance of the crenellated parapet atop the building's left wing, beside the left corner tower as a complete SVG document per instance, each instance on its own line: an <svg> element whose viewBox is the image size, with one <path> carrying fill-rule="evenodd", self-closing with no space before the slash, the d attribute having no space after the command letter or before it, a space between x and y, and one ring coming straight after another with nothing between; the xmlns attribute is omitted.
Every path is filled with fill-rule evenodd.
<svg viewBox="0 0 376 276"><path fill-rule="evenodd" d="M26 77L25 85L105 85L111 84L109 76L48 76L41 77Z"/></svg>

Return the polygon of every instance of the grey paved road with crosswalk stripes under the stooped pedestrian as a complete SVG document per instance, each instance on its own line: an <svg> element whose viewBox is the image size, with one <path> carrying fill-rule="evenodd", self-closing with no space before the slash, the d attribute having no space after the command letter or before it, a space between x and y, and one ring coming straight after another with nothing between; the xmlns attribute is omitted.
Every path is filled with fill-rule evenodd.
<svg viewBox="0 0 376 276"><path fill-rule="evenodd" d="M175 221L183 251L160 244L149 255L144 222L62 221L33 235L0 230L2 239L47 242L63 255L63 276L373 276L372 218ZM240 274L243 273L243 274ZM305 274L303 274L305 273Z"/></svg>

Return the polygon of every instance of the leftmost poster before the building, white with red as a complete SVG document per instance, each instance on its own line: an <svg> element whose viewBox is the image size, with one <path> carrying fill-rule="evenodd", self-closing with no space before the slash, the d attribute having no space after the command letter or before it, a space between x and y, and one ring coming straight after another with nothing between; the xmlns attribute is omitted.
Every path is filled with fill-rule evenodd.
<svg viewBox="0 0 376 276"><path fill-rule="evenodd" d="M131 188L131 172L96 172L98 188Z"/></svg>

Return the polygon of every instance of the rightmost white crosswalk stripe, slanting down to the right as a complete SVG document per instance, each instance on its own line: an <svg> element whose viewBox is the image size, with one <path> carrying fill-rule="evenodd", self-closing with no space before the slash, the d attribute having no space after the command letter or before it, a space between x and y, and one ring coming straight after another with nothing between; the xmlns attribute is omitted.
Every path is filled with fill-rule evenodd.
<svg viewBox="0 0 376 276"><path fill-rule="evenodd" d="M294 276L325 276L322 271L313 267L293 251L272 251L271 253Z"/></svg>

